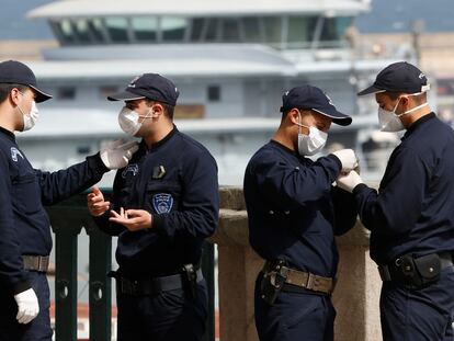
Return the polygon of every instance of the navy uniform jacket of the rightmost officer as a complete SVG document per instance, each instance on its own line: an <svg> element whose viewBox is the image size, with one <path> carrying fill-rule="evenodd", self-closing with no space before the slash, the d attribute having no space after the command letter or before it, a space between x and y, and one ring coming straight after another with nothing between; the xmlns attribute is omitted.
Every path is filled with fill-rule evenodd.
<svg viewBox="0 0 454 341"><path fill-rule="evenodd" d="M371 257L454 250L454 132L434 113L415 122L393 151L377 191L353 193L371 234Z"/></svg>

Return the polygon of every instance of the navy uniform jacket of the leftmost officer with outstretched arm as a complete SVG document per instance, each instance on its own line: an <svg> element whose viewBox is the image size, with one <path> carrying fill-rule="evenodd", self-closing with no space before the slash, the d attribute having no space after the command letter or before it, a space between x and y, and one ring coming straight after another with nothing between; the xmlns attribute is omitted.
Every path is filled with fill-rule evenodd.
<svg viewBox="0 0 454 341"><path fill-rule="evenodd" d="M99 155L54 173L33 169L14 134L0 127L0 289L16 294L30 288L22 254L50 253L44 206L87 190L106 171Z"/></svg>

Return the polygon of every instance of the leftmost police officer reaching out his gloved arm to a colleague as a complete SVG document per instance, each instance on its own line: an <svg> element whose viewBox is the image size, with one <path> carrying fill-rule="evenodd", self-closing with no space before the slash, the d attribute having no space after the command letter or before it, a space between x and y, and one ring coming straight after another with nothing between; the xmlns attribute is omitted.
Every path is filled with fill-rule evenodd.
<svg viewBox="0 0 454 341"><path fill-rule="evenodd" d="M15 60L0 62L0 340L52 340L46 271L52 249L52 205L89 189L110 169L124 167L135 147L105 149L55 173L33 169L15 141L31 129L39 90L33 71Z"/></svg>

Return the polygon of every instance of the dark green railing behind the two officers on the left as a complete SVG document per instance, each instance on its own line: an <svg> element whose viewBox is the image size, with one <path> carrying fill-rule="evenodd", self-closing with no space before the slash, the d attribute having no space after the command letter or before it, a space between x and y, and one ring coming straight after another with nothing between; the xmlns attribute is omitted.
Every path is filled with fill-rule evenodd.
<svg viewBox="0 0 454 341"><path fill-rule="evenodd" d="M109 196L110 191L103 191ZM87 211L86 194L48 207L55 234L55 340L77 340L78 236L89 236L89 322L90 341L111 341L112 239L100 231ZM208 286L208 321L204 341L215 340L214 246L204 245L202 270Z"/></svg>

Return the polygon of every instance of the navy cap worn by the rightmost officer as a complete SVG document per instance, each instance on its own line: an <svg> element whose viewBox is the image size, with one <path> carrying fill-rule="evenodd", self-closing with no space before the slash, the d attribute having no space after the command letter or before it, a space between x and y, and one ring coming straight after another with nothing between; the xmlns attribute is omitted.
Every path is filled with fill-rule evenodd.
<svg viewBox="0 0 454 341"><path fill-rule="evenodd" d="M430 89L428 78L416 66L407 61L394 62L377 75L375 82L360 91L359 95L377 92L419 93Z"/></svg>

